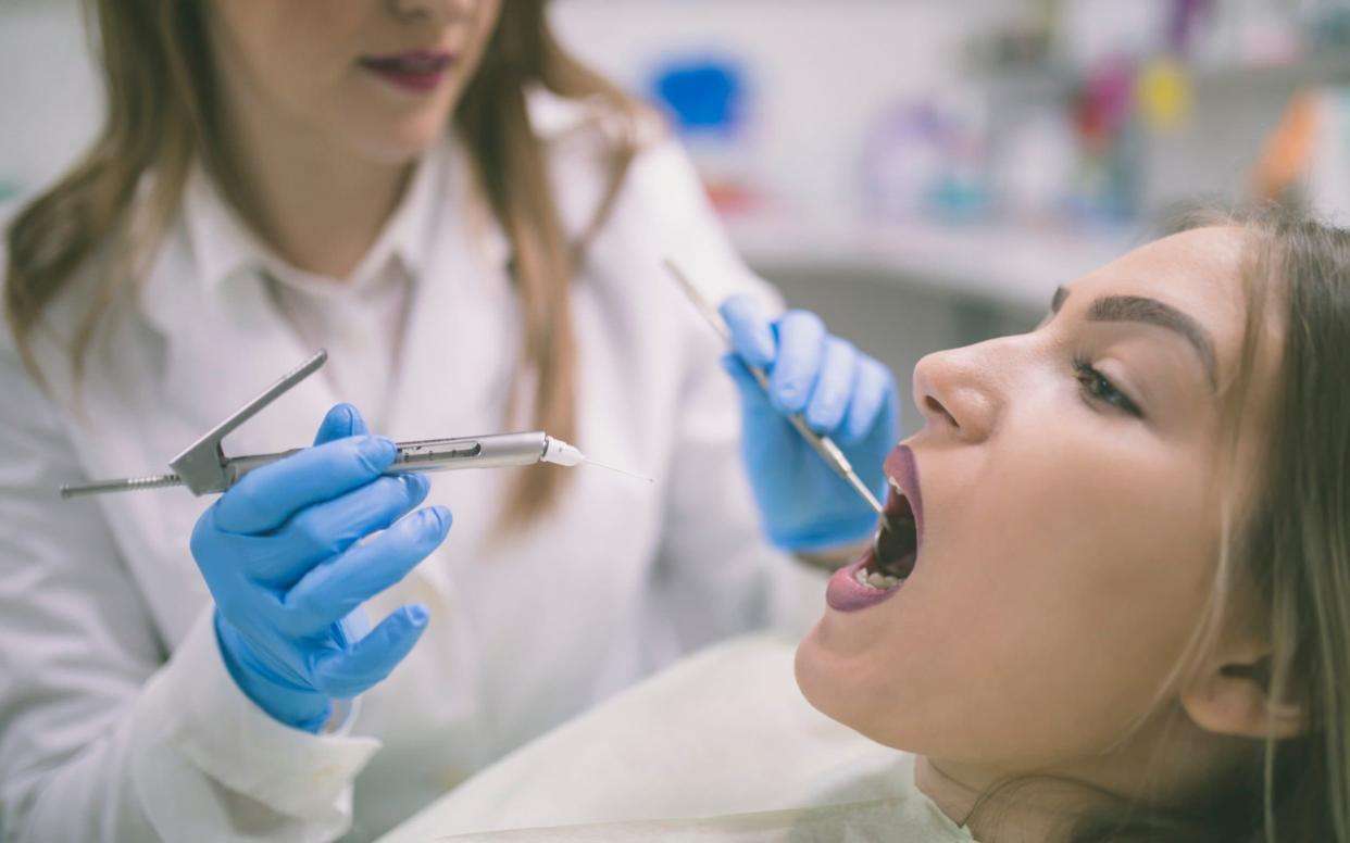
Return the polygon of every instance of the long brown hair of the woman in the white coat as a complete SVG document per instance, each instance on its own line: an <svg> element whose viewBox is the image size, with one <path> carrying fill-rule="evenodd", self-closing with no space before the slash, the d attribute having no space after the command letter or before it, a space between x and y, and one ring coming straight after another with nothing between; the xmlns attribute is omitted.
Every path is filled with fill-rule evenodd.
<svg viewBox="0 0 1350 843"><path fill-rule="evenodd" d="M505 232L524 313L518 383L532 383L533 424L564 440L576 433L576 340L571 283L585 239L603 221L639 150L641 105L582 65L554 36L545 0L502 0L497 27L455 112L455 129L479 187ZM236 201L239 181L216 139L216 97L200 3L86 0L107 89L107 117L93 146L8 231L4 308L34 378L42 372L34 332L49 306L99 259L84 317L68 337L78 382L101 320L134 290L144 262L180 210L201 161ZM598 101L618 127L605 200L582 241L568 240L548 179L545 151L526 111L531 85ZM147 179L146 175L153 178ZM514 409L508 415L514 415ZM520 476L501 526L522 525L558 498L566 472Z"/></svg>

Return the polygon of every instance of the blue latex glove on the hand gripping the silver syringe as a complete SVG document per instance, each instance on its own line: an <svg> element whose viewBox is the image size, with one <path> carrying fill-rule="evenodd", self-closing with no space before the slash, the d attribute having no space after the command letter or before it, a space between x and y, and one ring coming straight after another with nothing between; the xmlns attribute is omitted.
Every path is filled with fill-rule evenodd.
<svg viewBox="0 0 1350 843"><path fill-rule="evenodd" d="M333 699L389 676L427 626L420 604L374 630L362 608L450 529L444 507L401 518L427 496L428 482L381 476L393 460L394 444L369 436L360 414L339 405L313 448L247 473L192 531L230 674L296 728L319 731Z"/></svg>

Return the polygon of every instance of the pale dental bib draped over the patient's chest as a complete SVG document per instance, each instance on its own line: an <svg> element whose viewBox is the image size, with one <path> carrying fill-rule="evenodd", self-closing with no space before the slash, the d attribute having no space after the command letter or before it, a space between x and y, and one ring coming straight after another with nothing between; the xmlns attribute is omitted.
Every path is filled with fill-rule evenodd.
<svg viewBox="0 0 1350 843"><path fill-rule="evenodd" d="M705 650L487 767L386 843L975 843L914 757L825 718L791 641ZM455 836L458 835L458 836Z"/></svg>

